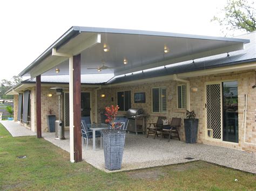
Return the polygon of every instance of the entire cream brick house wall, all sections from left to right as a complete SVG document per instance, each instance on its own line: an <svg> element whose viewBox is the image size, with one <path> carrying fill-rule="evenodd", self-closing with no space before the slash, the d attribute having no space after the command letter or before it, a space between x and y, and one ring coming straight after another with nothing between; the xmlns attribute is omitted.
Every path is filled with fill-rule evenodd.
<svg viewBox="0 0 256 191"><path fill-rule="evenodd" d="M242 71L235 73L226 73L218 75L207 75L199 77L191 77L191 87L197 87L198 91L191 92L191 110L194 110L199 118L199 132L198 142L211 145L219 145L225 147L236 148L239 150L256 151L255 145L244 143L244 128L242 128L242 116L244 113L245 98L244 94L247 94L247 125L246 125L246 140L248 143L256 143L256 88L252 86L255 84L255 72ZM205 127L205 83L214 81L238 81L238 120L239 120L239 143L228 143L222 141L216 141L206 138ZM177 85L184 84L182 82L168 80L163 82L143 83L126 85L120 87L102 87L97 90L97 119L100 123L100 110L104 110L106 106L117 104L117 91L131 90L131 106L132 108L143 108L147 115L146 123L153 123L157 121L158 116L166 116L171 120L172 117L185 118L185 110L177 109ZM167 111L166 113L153 113L151 105L151 91L153 87L166 87L167 97L172 95L172 99L167 98ZM96 88L82 87L82 91L89 91L91 93L91 121L95 122L95 90ZM146 103L134 103L134 93L145 92ZM47 94L52 93L52 97L47 97ZM100 97L100 94L105 94L105 97ZM42 87L42 131L48 131L46 114L48 114L49 108L53 109L53 114L58 114L58 98L55 90L50 90L50 87ZM119 115L124 115L125 112L119 112ZM35 88L31 88L31 130L36 131L36 94ZM181 128L179 128L179 135L181 140L185 140L184 123L182 120Z"/></svg>

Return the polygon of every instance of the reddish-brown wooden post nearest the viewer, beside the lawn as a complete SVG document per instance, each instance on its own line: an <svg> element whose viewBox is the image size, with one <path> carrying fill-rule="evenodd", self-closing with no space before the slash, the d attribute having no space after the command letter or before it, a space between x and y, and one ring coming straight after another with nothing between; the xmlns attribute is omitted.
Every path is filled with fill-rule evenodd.
<svg viewBox="0 0 256 191"><path fill-rule="evenodd" d="M81 134L81 55L73 56L74 152L75 162L82 161Z"/></svg>

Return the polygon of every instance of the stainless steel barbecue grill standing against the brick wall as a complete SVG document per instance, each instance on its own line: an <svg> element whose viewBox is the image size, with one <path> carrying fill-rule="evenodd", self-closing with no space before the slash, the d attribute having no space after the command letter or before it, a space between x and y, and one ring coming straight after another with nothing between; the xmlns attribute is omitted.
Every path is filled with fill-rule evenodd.
<svg viewBox="0 0 256 191"><path fill-rule="evenodd" d="M127 131L135 132L144 132L145 128L145 115L143 115L142 108L131 108L127 110L126 118L128 118Z"/></svg>

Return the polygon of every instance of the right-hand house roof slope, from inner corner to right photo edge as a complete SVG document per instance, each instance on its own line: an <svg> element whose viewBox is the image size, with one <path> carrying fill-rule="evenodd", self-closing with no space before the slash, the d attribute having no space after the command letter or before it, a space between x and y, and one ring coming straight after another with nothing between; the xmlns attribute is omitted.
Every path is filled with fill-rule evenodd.
<svg viewBox="0 0 256 191"><path fill-rule="evenodd" d="M109 82L110 84L113 83L121 83L121 82L128 82L140 79L147 79L150 77L158 77L164 75L171 75L171 74L180 74L186 72L192 72L196 70L204 70L204 69L211 69L217 67L224 67L224 66L231 66L231 65L238 65L241 63L248 63L248 62L255 62L256 61L256 32L251 32L239 36L239 38L250 39L250 43L245 44L244 49L240 51L234 51L224 54L218 54L213 56L208 56L205 58L195 59L179 63L174 63L171 65L161 66L157 68L151 68L144 71L134 72L126 75L115 76Z"/></svg>

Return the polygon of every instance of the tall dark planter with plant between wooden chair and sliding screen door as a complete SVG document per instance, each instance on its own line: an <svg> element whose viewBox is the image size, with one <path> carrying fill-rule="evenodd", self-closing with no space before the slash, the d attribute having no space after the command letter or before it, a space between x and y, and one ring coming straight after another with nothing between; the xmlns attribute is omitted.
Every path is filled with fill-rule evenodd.
<svg viewBox="0 0 256 191"><path fill-rule="evenodd" d="M186 143L197 143L198 121L195 119L196 114L194 110L186 112L186 119L184 119Z"/></svg>

